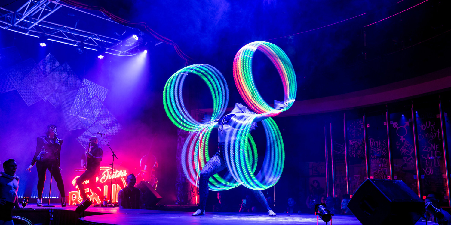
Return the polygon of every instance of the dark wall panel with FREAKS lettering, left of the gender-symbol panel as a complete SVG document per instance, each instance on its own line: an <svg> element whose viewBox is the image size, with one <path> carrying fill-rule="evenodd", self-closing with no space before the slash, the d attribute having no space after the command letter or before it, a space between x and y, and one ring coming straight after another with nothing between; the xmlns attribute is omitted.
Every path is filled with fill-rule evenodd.
<svg viewBox="0 0 451 225"><path fill-rule="evenodd" d="M365 117L369 178L391 179L385 114Z"/></svg>

